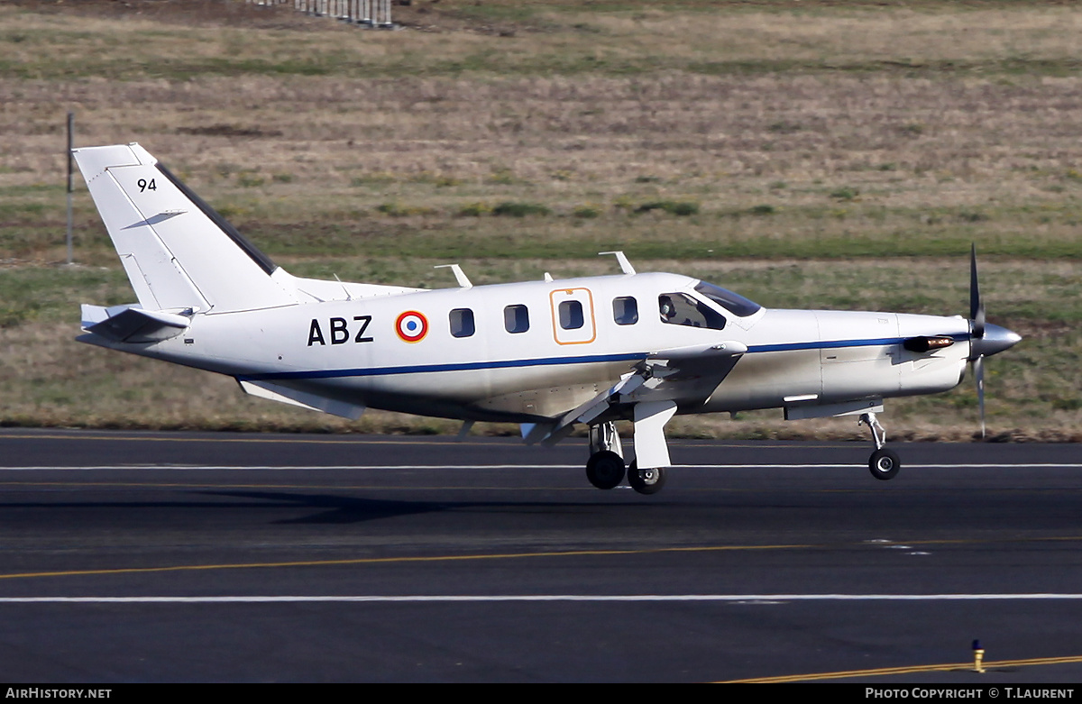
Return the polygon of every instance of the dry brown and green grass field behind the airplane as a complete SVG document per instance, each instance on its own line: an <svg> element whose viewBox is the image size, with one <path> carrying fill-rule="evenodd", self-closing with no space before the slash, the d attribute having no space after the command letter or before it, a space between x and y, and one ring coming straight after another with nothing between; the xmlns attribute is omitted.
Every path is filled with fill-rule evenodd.
<svg viewBox="0 0 1082 704"><path fill-rule="evenodd" d="M1082 13L1056 2L413 0L398 31L204 0L0 4L0 424L446 431L243 397L71 341L132 294L77 144L137 141L295 274L450 285L639 270L777 307L967 308L1027 340L988 364L999 439L1082 439ZM501 208L501 204L505 207ZM523 213L516 217L513 214ZM418 253L423 253L419 255ZM969 385L888 404L967 438ZM777 413L690 435L863 437ZM483 428L503 431L509 428Z"/></svg>

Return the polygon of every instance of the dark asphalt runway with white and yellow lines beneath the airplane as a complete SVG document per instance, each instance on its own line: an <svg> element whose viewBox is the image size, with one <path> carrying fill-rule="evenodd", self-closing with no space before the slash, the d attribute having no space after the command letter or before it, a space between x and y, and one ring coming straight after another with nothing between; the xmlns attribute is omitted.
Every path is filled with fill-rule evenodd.
<svg viewBox="0 0 1082 704"><path fill-rule="evenodd" d="M892 447L3 430L0 679L1082 680L1080 447Z"/></svg>

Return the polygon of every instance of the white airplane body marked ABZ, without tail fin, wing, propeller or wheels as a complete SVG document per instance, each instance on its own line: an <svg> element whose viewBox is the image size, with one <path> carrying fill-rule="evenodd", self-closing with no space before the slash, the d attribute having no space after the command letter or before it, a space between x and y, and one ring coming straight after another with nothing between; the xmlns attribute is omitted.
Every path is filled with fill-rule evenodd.
<svg viewBox="0 0 1082 704"><path fill-rule="evenodd" d="M573 409L651 353L710 343L748 350L720 383L704 388L699 375L672 389L678 413L934 394L965 369L962 318L766 308L740 317L697 295L696 283L639 274L210 310L161 342L88 342L369 408L513 422ZM664 321L659 300L676 294L723 322ZM955 344L905 349L916 335Z"/></svg>

